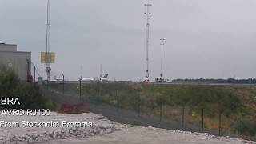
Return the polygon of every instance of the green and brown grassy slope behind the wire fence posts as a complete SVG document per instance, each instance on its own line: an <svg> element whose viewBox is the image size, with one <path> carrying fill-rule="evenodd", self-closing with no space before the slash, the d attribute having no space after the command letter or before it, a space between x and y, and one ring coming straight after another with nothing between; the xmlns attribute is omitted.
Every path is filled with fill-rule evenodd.
<svg viewBox="0 0 256 144"><path fill-rule="evenodd" d="M62 86L57 86L62 90ZM65 91L78 95L78 84L66 84ZM118 97L117 97L118 91ZM256 86L203 86L203 85L154 85L92 82L82 84L82 96L92 101L106 102L126 110L142 114L159 115L164 106L164 117L181 118L186 107L186 122L201 121L204 110L205 126L218 128L218 116L222 116L222 130L237 130L237 116L241 119L241 131L255 134ZM119 101L118 101L119 99ZM244 120L246 119L246 120ZM250 132L249 132L250 131Z"/></svg>

